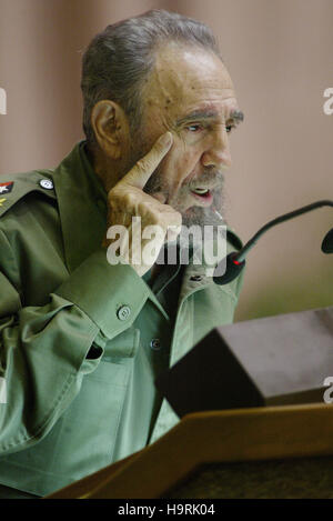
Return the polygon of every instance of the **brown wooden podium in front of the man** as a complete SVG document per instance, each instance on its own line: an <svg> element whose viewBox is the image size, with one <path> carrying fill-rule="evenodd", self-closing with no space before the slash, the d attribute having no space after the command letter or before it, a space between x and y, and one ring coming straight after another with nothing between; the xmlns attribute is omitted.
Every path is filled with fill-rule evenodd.
<svg viewBox="0 0 333 521"><path fill-rule="evenodd" d="M332 463L330 404L201 412L44 499L333 498Z"/></svg>

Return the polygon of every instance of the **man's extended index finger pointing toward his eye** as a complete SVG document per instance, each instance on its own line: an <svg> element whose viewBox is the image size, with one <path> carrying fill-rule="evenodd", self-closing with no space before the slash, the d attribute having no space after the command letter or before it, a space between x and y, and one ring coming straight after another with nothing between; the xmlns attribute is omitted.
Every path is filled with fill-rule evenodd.
<svg viewBox="0 0 333 521"><path fill-rule="evenodd" d="M118 184L127 184L142 190L151 174L169 152L172 141L173 138L171 132L162 134L150 152L140 159Z"/></svg>

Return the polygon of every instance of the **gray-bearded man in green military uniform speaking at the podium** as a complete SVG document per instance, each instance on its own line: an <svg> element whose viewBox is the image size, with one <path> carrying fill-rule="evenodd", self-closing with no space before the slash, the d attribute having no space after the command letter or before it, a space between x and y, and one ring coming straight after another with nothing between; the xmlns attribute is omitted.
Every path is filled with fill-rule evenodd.
<svg viewBox="0 0 333 521"><path fill-rule="evenodd" d="M48 494L173 427L154 379L232 322L240 291L240 279L218 287L191 261L133 261L147 242L134 241L133 217L162 229L157 251L168 229L175 240L180 224L224 222L242 113L211 31L167 11L109 26L84 54L82 91L87 140L57 169L0 183L8 497ZM122 263L107 258L114 226L130 232ZM228 251L240 246L229 230Z"/></svg>

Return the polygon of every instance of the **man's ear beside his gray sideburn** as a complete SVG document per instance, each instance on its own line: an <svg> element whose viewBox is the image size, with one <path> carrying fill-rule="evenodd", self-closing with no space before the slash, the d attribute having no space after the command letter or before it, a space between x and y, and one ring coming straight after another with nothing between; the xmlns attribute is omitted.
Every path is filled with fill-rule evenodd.
<svg viewBox="0 0 333 521"><path fill-rule="evenodd" d="M111 100L101 100L92 109L91 124L95 140L110 159L120 159L129 123L122 108Z"/></svg>

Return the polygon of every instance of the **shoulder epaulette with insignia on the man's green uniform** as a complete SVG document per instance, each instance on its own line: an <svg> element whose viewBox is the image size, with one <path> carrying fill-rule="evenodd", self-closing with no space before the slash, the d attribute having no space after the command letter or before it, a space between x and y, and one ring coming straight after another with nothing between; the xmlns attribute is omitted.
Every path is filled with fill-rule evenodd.
<svg viewBox="0 0 333 521"><path fill-rule="evenodd" d="M52 172L52 170L33 170L0 176L0 218L31 192L41 192L49 198L57 199Z"/></svg>

